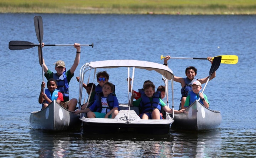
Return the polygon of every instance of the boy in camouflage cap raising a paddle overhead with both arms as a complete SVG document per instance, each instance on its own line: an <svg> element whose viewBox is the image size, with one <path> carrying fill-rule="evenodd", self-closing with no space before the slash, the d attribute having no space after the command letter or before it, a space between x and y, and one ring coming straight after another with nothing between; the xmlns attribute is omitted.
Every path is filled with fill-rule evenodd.
<svg viewBox="0 0 256 158"><path fill-rule="evenodd" d="M42 47L43 46L44 46L44 43L42 43ZM67 72L66 72L64 61L59 60L56 62L56 64L55 64L56 73L53 73L52 71L50 71L47 68L46 64L44 63L44 59L42 59L44 76L47 78L47 80L50 78L54 78L55 80L57 80L58 90L63 94L63 98L64 98L64 102L61 102L60 105L63 106L64 108L68 109L69 111L74 111L76 108L76 105L78 103L78 101L75 98L72 98L71 100L69 100L69 85L68 84L69 84L71 78L74 76L76 67L78 67L78 64L80 61L80 52L81 52L79 43L75 43L74 47L76 48L75 61L74 61L74 64L72 65L72 67ZM40 47L38 47L38 59L39 59L40 66L42 66Z"/></svg>

